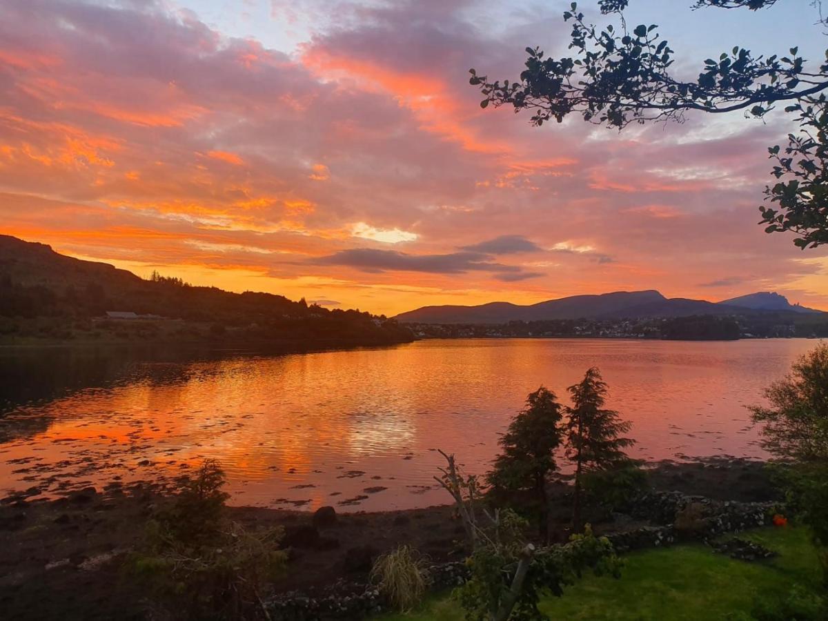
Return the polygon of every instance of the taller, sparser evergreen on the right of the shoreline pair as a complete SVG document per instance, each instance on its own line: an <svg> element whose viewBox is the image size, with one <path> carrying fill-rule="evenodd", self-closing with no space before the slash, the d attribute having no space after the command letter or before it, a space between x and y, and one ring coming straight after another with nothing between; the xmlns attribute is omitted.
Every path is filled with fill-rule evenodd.
<svg viewBox="0 0 828 621"><path fill-rule="evenodd" d="M595 470L609 470L628 463L624 449L635 440L621 437L632 427L619 413L604 408L607 384L597 367L590 368L580 383L567 388L572 406L566 408L566 457L575 464L575 503L572 525L580 532L583 475Z"/></svg>

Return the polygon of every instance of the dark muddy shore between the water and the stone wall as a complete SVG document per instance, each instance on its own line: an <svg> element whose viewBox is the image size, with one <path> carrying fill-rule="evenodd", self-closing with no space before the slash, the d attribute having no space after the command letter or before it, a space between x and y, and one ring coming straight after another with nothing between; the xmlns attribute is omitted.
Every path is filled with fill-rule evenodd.
<svg viewBox="0 0 828 621"><path fill-rule="evenodd" d="M731 458L649 467L649 486L720 500L778 498L758 461ZM565 538L570 487L551 484L552 528ZM0 501L0 610L3 619L145 619L142 592L120 570L142 537L142 524L165 497L152 484L76 490L65 498ZM432 561L460 560L463 528L449 506L339 514L315 527L308 512L231 507L247 527L281 525L290 544L288 575L276 590L309 590L336 580L364 580L373 556L400 544ZM642 525L595 514L598 532Z"/></svg>

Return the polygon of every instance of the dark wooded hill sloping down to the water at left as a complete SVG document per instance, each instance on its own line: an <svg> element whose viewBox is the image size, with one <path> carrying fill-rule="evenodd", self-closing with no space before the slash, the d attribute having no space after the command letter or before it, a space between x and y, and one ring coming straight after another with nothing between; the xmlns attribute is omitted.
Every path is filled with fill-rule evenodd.
<svg viewBox="0 0 828 621"><path fill-rule="evenodd" d="M107 263L66 257L45 244L0 235L0 318L48 317L54 328L110 310L209 324L215 338L230 330L248 340L373 344L412 339L396 321L358 310L328 310L270 293L190 286L174 277L144 280ZM9 334L20 325L7 321L0 327ZM152 332L152 325L147 330Z"/></svg>

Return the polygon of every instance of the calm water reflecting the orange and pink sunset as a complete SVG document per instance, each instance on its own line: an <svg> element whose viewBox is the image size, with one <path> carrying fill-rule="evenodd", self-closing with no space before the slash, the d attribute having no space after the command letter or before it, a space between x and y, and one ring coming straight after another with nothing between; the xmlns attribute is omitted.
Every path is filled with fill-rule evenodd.
<svg viewBox="0 0 828 621"><path fill-rule="evenodd" d="M431 340L389 349L256 356L0 353L0 490L164 479L204 457L233 503L339 510L444 503L454 452L483 472L541 384L597 365L634 455L763 457L745 406L816 341ZM343 504L340 504L343 503Z"/></svg>

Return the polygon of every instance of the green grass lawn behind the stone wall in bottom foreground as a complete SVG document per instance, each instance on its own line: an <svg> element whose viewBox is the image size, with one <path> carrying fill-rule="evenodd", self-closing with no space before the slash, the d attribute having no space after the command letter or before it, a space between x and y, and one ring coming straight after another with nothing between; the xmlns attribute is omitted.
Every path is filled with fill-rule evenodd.
<svg viewBox="0 0 828 621"><path fill-rule="evenodd" d="M633 552L624 556L619 580L585 575L562 598L542 600L541 609L550 619L724 620L730 614L748 613L758 599L785 595L794 584L810 586L818 580L816 555L804 528L763 528L740 537L779 556L734 561L700 544ZM444 594L412 613L379 619L462 621L463 611Z"/></svg>

